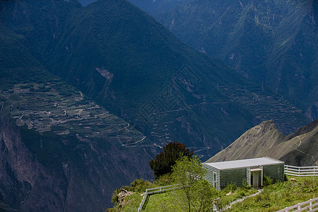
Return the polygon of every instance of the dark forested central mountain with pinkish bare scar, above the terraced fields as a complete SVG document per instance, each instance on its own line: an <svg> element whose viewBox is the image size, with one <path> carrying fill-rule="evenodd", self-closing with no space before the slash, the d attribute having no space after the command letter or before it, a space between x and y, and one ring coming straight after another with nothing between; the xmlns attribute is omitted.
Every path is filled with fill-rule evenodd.
<svg viewBox="0 0 318 212"><path fill-rule="evenodd" d="M308 123L289 102L183 45L128 1L78 8L57 37L47 69L156 145L182 141L211 155L267 116L286 133Z"/></svg>

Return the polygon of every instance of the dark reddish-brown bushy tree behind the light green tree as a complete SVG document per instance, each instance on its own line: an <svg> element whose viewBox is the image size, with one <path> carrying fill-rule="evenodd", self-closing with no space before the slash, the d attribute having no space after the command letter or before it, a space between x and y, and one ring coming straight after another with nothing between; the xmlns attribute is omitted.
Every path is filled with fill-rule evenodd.
<svg viewBox="0 0 318 212"><path fill-rule="evenodd" d="M181 156L192 158L193 151L184 143L170 142L163 147L163 151L155 156L155 160L149 161L151 170L153 170L155 179L162 175L170 174L172 166Z"/></svg>

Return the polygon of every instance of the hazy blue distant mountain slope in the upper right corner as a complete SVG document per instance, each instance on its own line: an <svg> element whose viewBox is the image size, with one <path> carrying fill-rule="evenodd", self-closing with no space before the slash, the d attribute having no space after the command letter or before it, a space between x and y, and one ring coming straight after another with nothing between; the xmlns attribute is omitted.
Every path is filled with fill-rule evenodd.
<svg viewBox="0 0 318 212"><path fill-rule="evenodd" d="M189 1L153 16L182 42L318 118L317 1Z"/></svg>

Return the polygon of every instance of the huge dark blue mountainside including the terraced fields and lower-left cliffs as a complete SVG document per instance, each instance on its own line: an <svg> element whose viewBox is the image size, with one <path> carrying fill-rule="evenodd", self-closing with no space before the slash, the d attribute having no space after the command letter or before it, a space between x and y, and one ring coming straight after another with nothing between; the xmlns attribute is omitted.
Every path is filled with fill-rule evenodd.
<svg viewBox="0 0 318 212"><path fill-rule="evenodd" d="M310 122L124 0L0 1L0 203L100 211L170 141L204 159L265 119Z"/></svg>

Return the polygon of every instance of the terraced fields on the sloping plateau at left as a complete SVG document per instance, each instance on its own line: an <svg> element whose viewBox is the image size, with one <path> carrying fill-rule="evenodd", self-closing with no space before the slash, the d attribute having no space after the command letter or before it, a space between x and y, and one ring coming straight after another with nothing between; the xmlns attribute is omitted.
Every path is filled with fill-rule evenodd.
<svg viewBox="0 0 318 212"><path fill-rule="evenodd" d="M107 137L122 145L144 139L129 123L63 83L16 84L0 96L9 100L11 116L18 126L25 125L40 133Z"/></svg>

